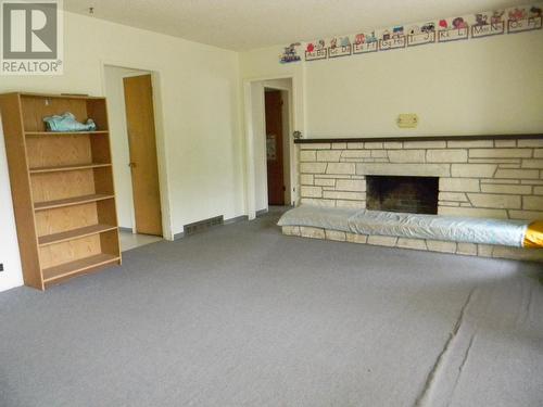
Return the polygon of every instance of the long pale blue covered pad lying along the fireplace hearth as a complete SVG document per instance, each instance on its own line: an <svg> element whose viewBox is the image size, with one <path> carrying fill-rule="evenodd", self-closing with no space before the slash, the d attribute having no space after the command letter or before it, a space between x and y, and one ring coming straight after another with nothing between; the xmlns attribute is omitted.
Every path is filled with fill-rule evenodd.
<svg viewBox="0 0 543 407"><path fill-rule="evenodd" d="M419 215L302 205L283 214L279 226L308 226L358 234L543 247L543 221Z"/></svg>

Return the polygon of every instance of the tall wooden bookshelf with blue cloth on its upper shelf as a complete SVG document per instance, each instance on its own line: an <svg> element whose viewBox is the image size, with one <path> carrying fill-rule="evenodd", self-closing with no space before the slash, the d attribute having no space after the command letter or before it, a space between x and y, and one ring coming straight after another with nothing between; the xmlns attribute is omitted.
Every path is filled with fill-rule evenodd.
<svg viewBox="0 0 543 407"><path fill-rule="evenodd" d="M43 117L92 118L97 131L47 131ZM0 94L26 285L45 290L121 264L104 98Z"/></svg>

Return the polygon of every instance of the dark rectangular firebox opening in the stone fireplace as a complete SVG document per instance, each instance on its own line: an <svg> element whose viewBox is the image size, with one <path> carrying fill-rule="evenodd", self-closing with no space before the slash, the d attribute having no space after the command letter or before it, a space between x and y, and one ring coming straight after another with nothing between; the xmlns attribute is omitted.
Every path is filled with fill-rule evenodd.
<svg viewBox="0 0 543 407"><path fill-rule="evenodd" d="M367 176L366 207L371 211L438 214L439 178Z"/></svg>

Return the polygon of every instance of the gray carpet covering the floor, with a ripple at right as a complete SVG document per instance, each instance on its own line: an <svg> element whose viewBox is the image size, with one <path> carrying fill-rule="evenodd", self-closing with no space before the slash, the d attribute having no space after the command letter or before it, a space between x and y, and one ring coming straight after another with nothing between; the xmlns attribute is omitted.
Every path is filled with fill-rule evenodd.
<svg viewBox="0 0 543 407"><path fill-rule="evenodd" d="M542 406L541 265L288 238L272 213L0 294L0 406Z"/></svg>

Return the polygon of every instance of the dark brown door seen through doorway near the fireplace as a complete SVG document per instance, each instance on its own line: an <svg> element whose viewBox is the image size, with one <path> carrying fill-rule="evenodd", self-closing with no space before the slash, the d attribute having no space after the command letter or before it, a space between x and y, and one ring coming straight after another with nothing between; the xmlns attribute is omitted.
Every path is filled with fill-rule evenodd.
<svg viewBox="0 0 543 407"><path fill-rule="evenodd" d="M268 204L285 205L281 92L265 91L265 103Z"/></svg>

